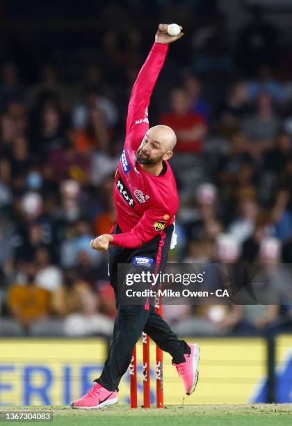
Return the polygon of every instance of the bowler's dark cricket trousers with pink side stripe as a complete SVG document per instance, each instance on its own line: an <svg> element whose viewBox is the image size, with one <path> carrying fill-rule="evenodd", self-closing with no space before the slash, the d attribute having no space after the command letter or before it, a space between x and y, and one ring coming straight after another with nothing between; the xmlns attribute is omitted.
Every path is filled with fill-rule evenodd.
<svg viewBox="0 0 292 426"><path fill-rule="evenodd" d="M163 265L167 262L172 230L173 225L168 226L163 233L157 234L149 242L138 248L117 246L110 246L109 248L109 274L111 285L115 290L117 316L113 328L113 342L104 364L104 370L99 379L95 379L108 390L117 390L120 379L131 362L133 347L143 331L154 340L156 345L172 356L173 363L184 362L184 354L190 353L186 342L177 338L177 335L171 331L161 315L156 313L153 304L150 303L149 309L147 309L143 304L127 305L120 303L120 289L117 285L117 264L131 264L127 273L135 273L137 271L137 265L133 265L135 256L152 258L154 262L160 263L159 270L163 271ZM120 227L116 224L113 233L121 232Z"/></svg>

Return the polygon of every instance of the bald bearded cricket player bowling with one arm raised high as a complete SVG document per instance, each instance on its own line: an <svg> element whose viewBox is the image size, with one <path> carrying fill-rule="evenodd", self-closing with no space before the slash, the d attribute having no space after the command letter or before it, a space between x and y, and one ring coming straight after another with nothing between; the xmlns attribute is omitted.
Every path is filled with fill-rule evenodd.
<svg viewBox="0 0 292 426"><path fill-rule="evenodd" d="M177 141L175 132L163 125L149 128L148 122L149 100L168 45L184 35L181 32L179 36L169 36L167 29L168 24L159 24L154 45L129 100L124 150L113 191L117 221L111 234L100 235L91 242L93 249L109 251L117 317L104 370L88 393L72 402L71 406L77 409L96 409L117 402L117 386L143 331L172 356L187 395L193 393L197 384L200 348L179 340L151 303L119 303L117 286L118 263L129 264L129 271L145 267L145 263L165 265L179 207L175 178L168 164Z"/></svg>

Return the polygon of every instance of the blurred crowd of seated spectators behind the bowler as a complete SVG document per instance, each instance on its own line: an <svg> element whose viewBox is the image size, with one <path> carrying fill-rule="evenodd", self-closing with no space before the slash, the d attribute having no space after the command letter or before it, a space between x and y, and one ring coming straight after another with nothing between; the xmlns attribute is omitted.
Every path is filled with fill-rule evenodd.
<svg viewBox="0 0 292 426"><path fill-rule="evenodd" d="M259 263L289 292L289 269L270 265L292 263L292 49L257 8L229 45L219 13L195 27L176 7L188 31L149 109L150 125L170 125L178 141L170 261ZM143 26L114 28L74 81L60 62L42 63L33 82L15 58L1 65L1 335L111 336L107 255L90 240L115 221L127 100L153 38ZM292 310L279 296L268 306L165 306L165 319L180 335L265 333L291 329Z"/></svg>

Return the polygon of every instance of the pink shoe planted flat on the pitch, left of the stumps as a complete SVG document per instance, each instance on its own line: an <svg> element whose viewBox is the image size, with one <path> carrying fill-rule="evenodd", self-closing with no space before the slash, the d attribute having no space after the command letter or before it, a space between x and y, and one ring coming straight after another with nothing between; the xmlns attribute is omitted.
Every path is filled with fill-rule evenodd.
<svg viewBox="0 0 292 426"><path fill-rule="evenodd" d="M117 403L117 392L103 388L99 383L95 383L88 393L79 400L72 402L71 407L76 409L96 409L106 405Z"/></svg>

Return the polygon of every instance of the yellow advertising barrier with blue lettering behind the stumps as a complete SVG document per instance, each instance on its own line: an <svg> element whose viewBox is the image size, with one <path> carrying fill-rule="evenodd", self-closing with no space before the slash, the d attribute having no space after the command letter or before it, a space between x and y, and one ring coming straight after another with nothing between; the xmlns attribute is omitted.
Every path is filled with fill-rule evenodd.
<svg viewBox="0 0 292 426"><path fill-rule="evenodd" d="M189 339L201 347L200 383L186 404L266 402L267 351L261 338ZM138 343L138 406L143 403L142 343ZM279 402L291 402L292 336L276 338L277 388ZM102 338L1 339L0 404L70 404L98 377L106 356ZM150 345L155 365L155 345ZM155 404L155 370L152 368L151 403ZM184 388L171 359L165 354L165 404L179 404ZM119 400L129 404L129 373L120 384Z"/></svg>

